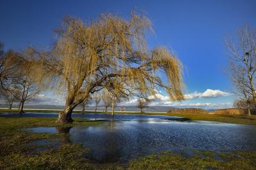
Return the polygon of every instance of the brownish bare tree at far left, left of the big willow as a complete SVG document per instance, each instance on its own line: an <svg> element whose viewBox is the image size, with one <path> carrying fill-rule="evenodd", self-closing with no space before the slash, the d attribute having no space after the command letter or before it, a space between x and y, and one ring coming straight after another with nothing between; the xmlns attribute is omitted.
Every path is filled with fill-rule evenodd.
<svg viewBox="0 0 256 170"><path fill-rule="evenodd" d="M39 92L40 88L36 85L31 76L31 61L26 53L8 51L1 58L0 78L1 89L4 96L11 97L10 104L15 98L20 102L20 113L23 113L25 101L32 99Z"/></svg>

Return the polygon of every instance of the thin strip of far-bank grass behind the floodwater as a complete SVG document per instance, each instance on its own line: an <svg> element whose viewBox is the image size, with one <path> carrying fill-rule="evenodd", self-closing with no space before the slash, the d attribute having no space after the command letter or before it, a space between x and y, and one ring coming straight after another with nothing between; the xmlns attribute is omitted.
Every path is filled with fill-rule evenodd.
<svg viewBox="0 0 256 170"><path fill-rule="evenodd" d="M18 110L8 110L0 109L0 111L12 111L17 112ZM52 113L57 112L56 110L24 110L28 112L37 112L37 113ZM111 113L104 111L74 111L74 113ZM205 120L205 121L215 121L215 122L225 122L230 124L248 124L256 125L256 115L248 117L247 115L216 115L216 114L204 114L204 113L140 113L140 112L121 112L116 111L115 114L129 114L129 115L165 115L165 116L177 116L188 118L189 120Z"/></svg>

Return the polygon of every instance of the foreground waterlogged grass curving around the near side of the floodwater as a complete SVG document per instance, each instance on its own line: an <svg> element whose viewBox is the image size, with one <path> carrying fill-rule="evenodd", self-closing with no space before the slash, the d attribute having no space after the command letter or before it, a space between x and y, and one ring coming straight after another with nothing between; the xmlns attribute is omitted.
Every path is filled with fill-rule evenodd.
<svg viewBox="0 0 256 170"><path fill-rule="evenodd" d="M25 131L26 127L60 127L74 125L92 126L102 122L86 122L74 118L73 124L57 124L55 118L36 117L0 117L0 169L255 169L256 152L212 153L197 151L193 156L179 153L163 152L149 155L127 164L97 164L84 159L88 152L79 143L67 140L68 134L33 133ZM52 147L46 143L29 145L33 141L50 141L59 143ZM47 148L33 152L38 148ZM218 155L216 159L215 155Z"/></svg>

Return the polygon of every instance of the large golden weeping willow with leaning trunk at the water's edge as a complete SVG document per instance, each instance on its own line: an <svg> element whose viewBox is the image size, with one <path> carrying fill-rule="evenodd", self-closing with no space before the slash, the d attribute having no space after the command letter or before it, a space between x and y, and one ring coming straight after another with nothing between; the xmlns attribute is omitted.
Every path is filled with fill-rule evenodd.
<svg viewBox="0 0 256 170"><path fill-rule="evenodd" d="M129 20L111 14L90 22L65 18L51 52L33 53L33 73L42 85L66 90L57 122L73 122L72 110L116 78L127 92L155 95L161 87L172 100L184 99L181 63L164 47L148 49L150 31L150 20L135 13Z"/></svg>

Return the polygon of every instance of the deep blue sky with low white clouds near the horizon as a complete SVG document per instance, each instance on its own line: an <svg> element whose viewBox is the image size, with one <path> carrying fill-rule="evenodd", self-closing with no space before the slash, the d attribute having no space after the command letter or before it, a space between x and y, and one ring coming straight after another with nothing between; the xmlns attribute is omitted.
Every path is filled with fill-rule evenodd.
<svg viewBox="0 0 256 170"><path fill-rule="evenodd" d="M61 18L65 15L88 20L96 18L100 13L111 12L129 18L132 10L145 11L152 20L155 31L155 35L149 38L149 46L164 45L174 50L184 65L186 94L202 94L177 104L182 107L201 104L205 108L221 108L228 103L230 106L234 96L214 91L232 93L234 90L223 71L227 64L223 39L243 24L256 26L256 1L249 0L0 0L0 4L0 41L5 43L6 50L23 50L31 45L51 45L54 38L52 31L61 24ZM204 92L209 95L203 95ZM47 98L56 98L51 93L45 95ZM161 95L165 96L164 92ZM168 101L165 103L170 104Z"/></svg>

